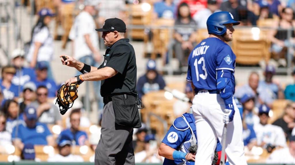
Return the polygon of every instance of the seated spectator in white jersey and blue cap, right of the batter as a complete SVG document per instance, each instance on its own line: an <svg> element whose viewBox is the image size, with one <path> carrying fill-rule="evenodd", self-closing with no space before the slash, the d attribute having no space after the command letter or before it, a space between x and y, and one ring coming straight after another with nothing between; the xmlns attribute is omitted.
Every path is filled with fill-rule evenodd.
<svg viewBox="0 0 295 165"><path fill-rule="evenodd" d="M259 107L260 123L254 124L254 131L257 137L257 145L271 152L275 147L287 147L286 137L283 129L279 126L267 124L270 108L267 105Z"/></svg>

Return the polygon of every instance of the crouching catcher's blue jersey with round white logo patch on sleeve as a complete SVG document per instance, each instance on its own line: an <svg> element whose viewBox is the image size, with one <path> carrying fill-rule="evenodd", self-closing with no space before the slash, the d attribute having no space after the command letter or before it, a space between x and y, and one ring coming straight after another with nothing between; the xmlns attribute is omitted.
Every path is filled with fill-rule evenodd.
<svg viewBox="0 0 295 165"><path fill-rule="evenodd" d="M189 146L185 146L186 142L190 142L192 138L191 132L194 132L194 137L196 137L196 126L195 126L195 119L193 114L185 113L183 114L183 117L185 117L186 121L189 123L189 125L186 124L186 122L182 119L182 117L178 117L173 122L173 125L168 130L167 134L165 135L164 139L162 140L162 143L168 145L169 147L181 150L181 146L184 145L184 148L188 149ZM197 139L195 141L197 143ZM191 143L189 143L191 144ZM194 145L194 144L192 144ZM216 151L221 151L222 146L217 140L217 146ZM183 162L183 160L171 160L165 158L163 165L176 165ZM186 164L194 164L195 162L186 162Z"/></svg>

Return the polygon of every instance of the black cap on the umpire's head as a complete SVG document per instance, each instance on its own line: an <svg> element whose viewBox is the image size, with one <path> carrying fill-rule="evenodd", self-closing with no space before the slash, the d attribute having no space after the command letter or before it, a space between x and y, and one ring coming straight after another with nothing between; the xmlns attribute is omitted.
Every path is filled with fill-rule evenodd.
<svg viewBox="0 0 295 165"><path fill-rule="evenodd" d="M96 31L118 31L125 33L126 24L119 18L109 18L104 21L104 26L100 29L95 29Z"/></svg>

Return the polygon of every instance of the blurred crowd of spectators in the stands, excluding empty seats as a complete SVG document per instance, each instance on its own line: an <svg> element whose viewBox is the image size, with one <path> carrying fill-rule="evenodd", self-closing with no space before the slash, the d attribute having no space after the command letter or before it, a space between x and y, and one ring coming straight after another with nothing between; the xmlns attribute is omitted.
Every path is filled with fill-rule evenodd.
<svg viewBox="0 0 295 165"><path fill-rule="evenodd" d="M74 2L55 0L56 12L61 12L63 6ZM72 40L72 56L89 65L99 66L103 55L99 53L99 35L94 30L97 27L96 23L102 25L105 19L114 17L127 21L128 18L124 14L127 10L126 4L133 2L84 0L85 7L75 17L69 33ZM270 30L273 59L278 61L278 65L286 66L286 53L294 54L295 32L292 31L290 39L286 30L295 26L293 0L140 2L153 4L154 19L175 20L173 48L181 67L187 66L187 57L197 44L196 30L206 28L206 19L217 11L229 11L243 26L256 26L260 19L273 18L276 20L273 23L274 27L285 29ZM99 16L97 20L93 18L94 15ZM0 153L6 152L6 145L14 145L22 151L20 159L35 159L34 145L49 145L56 147L58 154L51 156L48 161L83 161L81 156L71 154L71 147L87 145L94 151L100 137L100 127L98 124L96 134L89 134L81 129L90 127L91 122L85 117L83 103L79 100L75 101L66 115L60 115L59 108L54 104L60 85L56 83L57 78L53 76L51 67L51 62L57 55L54 55L54 40L48 26L57 15L50 9L43 8L37 11L37 16L37 23L31 29L32 35L27 50L14 50L10 55L9 65L1 68ZM288 48L291 50L287 51ZM257 72L250 73L248 83L236 87L235 97L241 111L245 148L251 151L253 147L262 147L268 152L275 149L268 162L285 163L295 153L295 70L292 72L294 83L284 87L278 80L273 79L276 67L266 65L263 78ZM100 82L93 85L99 111L103 108L99 94ZM156 61L148 60L145 74L140 75L137 81L140 99L149 92L163 90L165 86L165 80L157 70ZM185 89L181 92L185 93L190 101L193 100L194 91L189 83L186 83ZM281 117L270 123L273 102L278 99L289 101ZM191 102L178 100L173 105L174 116L178 117L185 112L191 113L190 107ZM101 116L98 118L101 119ZM62 128L57 138L53 136L50 125L59 125ZM151 134L151 130L148 130L145 124L142 125L141 128L134 129L135 161L162 162L163 157L157 153L156 140L159 139L155 134ZM281 157L278 155L286 157L278 160L278 157ZM94 161L93 157L92 160Z"/></svg>

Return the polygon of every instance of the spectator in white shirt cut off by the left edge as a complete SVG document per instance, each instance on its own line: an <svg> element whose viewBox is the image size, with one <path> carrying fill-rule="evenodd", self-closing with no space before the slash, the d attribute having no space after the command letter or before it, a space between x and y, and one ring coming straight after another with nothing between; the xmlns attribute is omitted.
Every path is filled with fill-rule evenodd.
<svg viewBox="0 0 295 165"><path fill-rule="evenodd" d="M11 134L5 130L6 118L3 112L0 112L0 153L7 153L6 146L12 145Z"/></svg>

